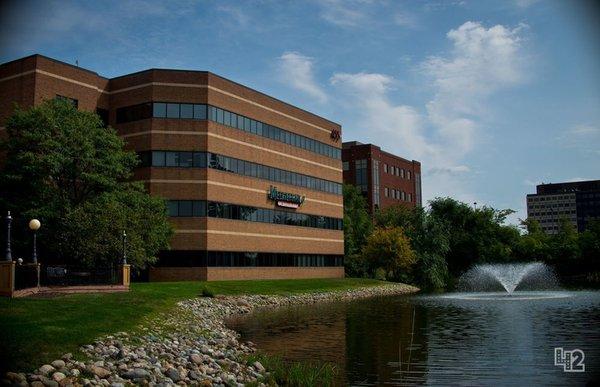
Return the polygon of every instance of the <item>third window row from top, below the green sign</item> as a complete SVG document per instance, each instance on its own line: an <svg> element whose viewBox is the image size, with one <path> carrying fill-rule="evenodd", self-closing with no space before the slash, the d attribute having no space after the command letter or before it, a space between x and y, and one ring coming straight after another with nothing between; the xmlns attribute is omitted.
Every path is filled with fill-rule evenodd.
<svg viewBox="0 0 600 387"><path fill-rule="evenodd" d="M342 230L342 219L205 200L169 200L169 216L206 217Z"/></svg>

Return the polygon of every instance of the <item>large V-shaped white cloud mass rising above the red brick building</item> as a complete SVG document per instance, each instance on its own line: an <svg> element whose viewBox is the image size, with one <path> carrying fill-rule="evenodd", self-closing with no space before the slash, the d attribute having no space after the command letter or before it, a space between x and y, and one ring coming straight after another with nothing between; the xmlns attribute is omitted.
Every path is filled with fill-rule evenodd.
<svg viewBox="0 0 600 387"><path fill-rule="evenodd" d="M477 201L466 186L473 171L464 158L483 130L487 98L524 80L522 28L466 22L449 31L449 54L417 68L432 91L421 108L393 100L396 80L390 75L336 73L330 82L341 91L341 102L358 112L353 126L360 128L361 141L422 161L425 199L451 195Z"/></svg>

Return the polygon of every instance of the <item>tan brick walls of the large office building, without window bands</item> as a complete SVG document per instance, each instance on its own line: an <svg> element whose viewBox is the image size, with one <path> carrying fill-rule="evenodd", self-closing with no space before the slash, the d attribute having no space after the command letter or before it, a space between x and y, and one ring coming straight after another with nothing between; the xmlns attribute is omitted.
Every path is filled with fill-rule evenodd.
<svg viewBox="0 0 600 387"><path fill-rule="evenodd" d="M341 159L328 157L211 120L145 118L117 123L117 110L150 102L215 106L341 149L331 132L340 125L204 71L151 69L113 79L39 55L0 65L0 127L13 104L39 104L57 95L76 99L81 110L109 112L109 124L127 147L143 151L210 152L341 184ZM4 135L4 134L3 134ZM202 200L272 208L270 186L305 196L300 214L343 218L339 194L282 184L210 168L138 168L135 178L168 200ZM342 256L343 231L210 217L171 218L172 250ZM193 259L192 259L193 261ZM200 261L198 261L200 262ZM323 278L343 276L341 267L161 267L152 280ZM192 267L189 267L192 266Z"/></svg>

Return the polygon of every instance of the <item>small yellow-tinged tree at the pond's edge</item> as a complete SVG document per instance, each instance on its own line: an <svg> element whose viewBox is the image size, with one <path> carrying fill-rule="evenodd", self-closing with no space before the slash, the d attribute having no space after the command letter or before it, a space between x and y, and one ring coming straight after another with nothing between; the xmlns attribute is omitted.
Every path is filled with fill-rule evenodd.
<svg viewBox="0 0 600 387"><path fill-rule="evenodd" d="M363 256L372 268L383 269L387 278L410 282L416 255L402 228L376 228L367 238Z"/></svg>

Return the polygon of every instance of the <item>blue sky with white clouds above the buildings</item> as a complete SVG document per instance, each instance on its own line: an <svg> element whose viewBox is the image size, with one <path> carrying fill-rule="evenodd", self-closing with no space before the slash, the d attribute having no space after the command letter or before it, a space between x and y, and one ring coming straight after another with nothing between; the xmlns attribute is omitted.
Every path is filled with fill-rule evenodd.
<svg viewBox="0 0 600 387"><path fill-rule="evenodd" d="M20 1L0 60L209 70L423 166L424 199L512 208L600 178L600 8L583 1Z"/></svg>

